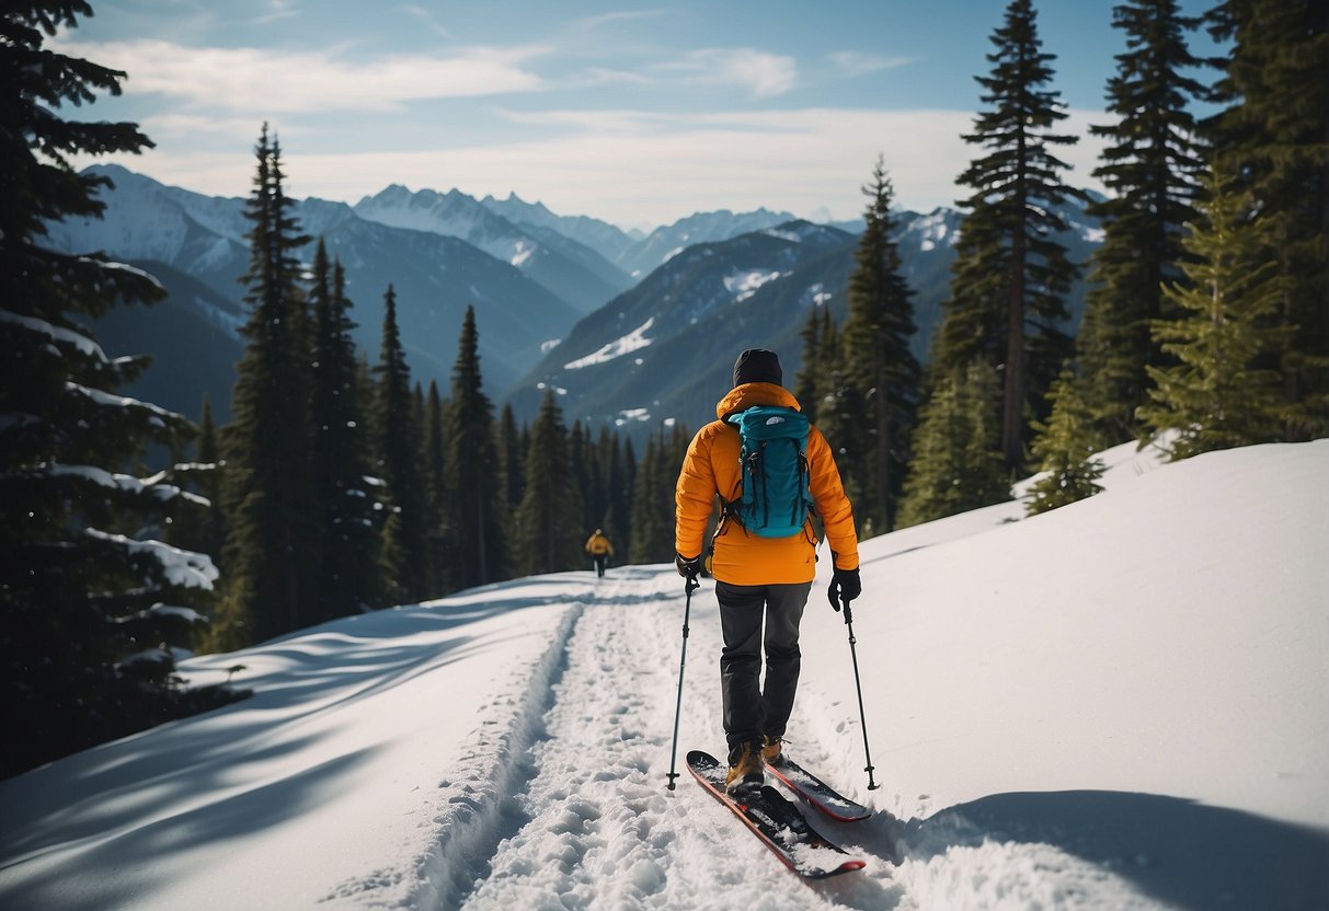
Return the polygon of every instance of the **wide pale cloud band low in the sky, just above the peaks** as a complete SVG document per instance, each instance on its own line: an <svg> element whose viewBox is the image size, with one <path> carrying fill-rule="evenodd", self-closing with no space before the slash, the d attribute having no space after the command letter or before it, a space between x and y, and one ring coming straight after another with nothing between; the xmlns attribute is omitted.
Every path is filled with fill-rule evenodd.
<svg viewBox="0 0 1329 911"><path fill-rule="evenodd" d="M861 215L877 154L902 208L930 211L965 195L956 178L977 150L961 134L973 114L957 110L799 109L666 116L634 110L509 112L534 129L525 141L490 141L465 147L320 153L311 138L291 141L282 126L288 190L296 197L355 202L388 183L474 197L517 193L565 215L586 214L622 226L658 226L694 211L759 206L795 215L848 219ZM1071 112L1063 131L1084 135L1100 112ZM243 195L253 170L247 125L229 143L186 154L159 142L128 167L166 183L215 195ZM279 124L280 126L280 124ZM149 131L152 134L152 131ZM222 149L229 151L222 151ZM1058 149L1075 166L1067 183L1094 186L1102 141L1086 137Z"/></svg>

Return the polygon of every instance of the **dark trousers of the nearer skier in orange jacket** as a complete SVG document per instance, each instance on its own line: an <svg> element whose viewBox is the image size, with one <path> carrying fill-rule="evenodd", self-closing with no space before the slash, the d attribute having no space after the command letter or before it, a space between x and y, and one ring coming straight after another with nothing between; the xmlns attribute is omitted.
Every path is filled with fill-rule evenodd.
<svg viewBox="0 0 1329 911"><path fill-rule="evenodd" d="M715 583L720 603L720 692L730 749L762 736L783 737L799 688L799 623L811 582L779 586ZM762 620L766 635L762 635ZM762 647L766 645L766 685Z"/></svg>

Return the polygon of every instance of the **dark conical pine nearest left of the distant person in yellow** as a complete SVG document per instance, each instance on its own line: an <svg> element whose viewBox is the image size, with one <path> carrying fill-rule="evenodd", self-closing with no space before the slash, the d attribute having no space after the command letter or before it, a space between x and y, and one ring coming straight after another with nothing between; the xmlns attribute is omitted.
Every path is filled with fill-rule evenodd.
<svg viewBox="0 0 1329 911"><path fill-rule="evenodd" d="M517 509L517 574L561 572L581 566L585 542L581 495L573 486L567 429L553 389L545 390L530 430L525 489Z"/></svg>

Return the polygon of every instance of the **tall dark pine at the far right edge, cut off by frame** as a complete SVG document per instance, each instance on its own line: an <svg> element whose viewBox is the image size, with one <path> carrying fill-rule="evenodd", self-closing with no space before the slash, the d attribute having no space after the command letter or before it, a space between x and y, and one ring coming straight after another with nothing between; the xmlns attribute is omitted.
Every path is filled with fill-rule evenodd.
<svg viewBox="0 0 1329 911"><path fill-rule="evenodd" d="M1232 41L1216 163L1253 206L1249 266L1277 263L1284 437L1329 436L1329 4L1225 0L1215 15Z"/></svg>

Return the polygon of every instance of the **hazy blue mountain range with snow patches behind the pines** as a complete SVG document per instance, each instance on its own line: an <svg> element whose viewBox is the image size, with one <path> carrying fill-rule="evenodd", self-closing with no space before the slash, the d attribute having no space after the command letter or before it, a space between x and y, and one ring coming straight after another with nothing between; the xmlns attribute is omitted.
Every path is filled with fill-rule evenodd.
<svg viewBox="0 0 1329 911"><path fill-rule="evenodd" d="M118 166L90 170L113 182L101 195L105 216L52 223L51 243L141 266L169 291L155 308L114 308L98 325L109 351L154 356L154 368L126 394L198 417L206 392L217 418L227 420L246 312L238 282L249 264L246 201L169 187ZM792 382L808 309L847 315L861 230L759 208L698 212L630 234L516 195L477 201L399 185L354 206L303 199L295 216L311 238L299 251L303 260L312 262L315 239L323 239L343 263L356 344L371 361L392 284L412 374L447 393L461 319L474 305L490 397L529 420L553 386L569 422L609 424L631 436L667 418L691 428L710 420L744 348L777 351ZM1062 240L1084 260L1098 226L1079 208L1067 218ZM900 212L896 222L920 328L913 348L922 359L961 215L938 208ZM1075 315L1082 297L1078 288Z"/></svg>

